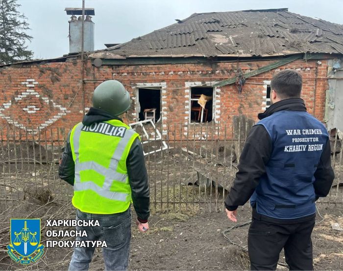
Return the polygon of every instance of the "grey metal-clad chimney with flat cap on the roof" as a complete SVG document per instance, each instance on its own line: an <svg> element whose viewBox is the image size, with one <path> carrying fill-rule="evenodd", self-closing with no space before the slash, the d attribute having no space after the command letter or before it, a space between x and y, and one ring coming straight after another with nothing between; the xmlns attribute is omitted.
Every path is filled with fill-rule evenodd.
<svg viewBox="0 0 343 271"><path fill-rule="evenodd" d="M82 48L82 8L66 8L67 15L72 17L69 20L69 53L81 52ZM76 15L79 17L76 18ZM94 8L85 8L84 41L85 52L94 51Z"/></svg>

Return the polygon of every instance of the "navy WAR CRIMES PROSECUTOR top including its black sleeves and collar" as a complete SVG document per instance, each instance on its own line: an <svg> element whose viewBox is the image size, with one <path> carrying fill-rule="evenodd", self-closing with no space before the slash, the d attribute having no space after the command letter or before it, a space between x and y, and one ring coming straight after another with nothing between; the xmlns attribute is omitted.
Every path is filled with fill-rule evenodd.
<svg viewBox="0 0 343 271"><path fill-rule="evenodd" d="M296 219L315 213L314 201L332 185L327 131L306 112L302 99L272 104L253 126L239 171L225 200L229 210L251 205L262 215Z"/></svg>

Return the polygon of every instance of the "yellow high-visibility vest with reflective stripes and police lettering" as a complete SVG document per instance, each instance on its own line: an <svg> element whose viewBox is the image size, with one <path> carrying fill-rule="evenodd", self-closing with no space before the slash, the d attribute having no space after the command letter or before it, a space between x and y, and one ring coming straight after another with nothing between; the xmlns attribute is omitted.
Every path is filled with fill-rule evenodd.
<svg viewBox="0 0 343 271"><path fill-rule="evenodd" d="M81 211L112 214L131 202L126 158L139 135L119 120L79 123L70 134L75 162L73 206Z"/></svg>

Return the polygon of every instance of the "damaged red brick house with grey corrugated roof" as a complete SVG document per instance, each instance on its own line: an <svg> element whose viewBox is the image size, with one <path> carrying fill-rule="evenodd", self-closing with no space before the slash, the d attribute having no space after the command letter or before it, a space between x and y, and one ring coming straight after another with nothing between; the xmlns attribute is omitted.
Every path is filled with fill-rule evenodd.
<svg viewBox="0 0 343 271"><path fill-rule="evenodd" d="M219 127L218 135L234 116L256 121L270 105L273 74L291 68L303 76L308 111L338 127L342 110L334 113L332 104L343 96L343 25L288 9L201 13L176 21L87 52L83 67L79 54L0 67L1 124L31 134L45 130L49 137L81 121L94 88L116 79L134 101L128 122L144 120L145 111L154 109L163 135L181 123L177 139L198 137L200 122Z"/></svg>

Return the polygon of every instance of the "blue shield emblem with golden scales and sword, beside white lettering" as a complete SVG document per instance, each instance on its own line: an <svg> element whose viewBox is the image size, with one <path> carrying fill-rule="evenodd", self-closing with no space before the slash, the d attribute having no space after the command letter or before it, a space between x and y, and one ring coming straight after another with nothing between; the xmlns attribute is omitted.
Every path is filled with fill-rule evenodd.
<svg viewBox="0 0 343 271"><path fill-rule="evenodd" d="M10 237L7 253L17 263L27 265L43 256L40 219L11 219Z"/></svg>

